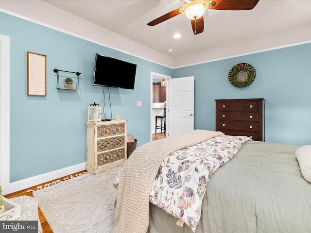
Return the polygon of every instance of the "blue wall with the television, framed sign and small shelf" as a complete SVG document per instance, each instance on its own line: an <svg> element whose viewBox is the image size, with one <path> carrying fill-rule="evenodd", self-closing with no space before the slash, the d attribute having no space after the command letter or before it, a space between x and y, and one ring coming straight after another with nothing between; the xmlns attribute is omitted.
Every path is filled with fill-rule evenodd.
<svg viewBox="0 0 311 233"><path fill-rule="evenodd" d="M86 161L87 106L103 106L102 88L92 84L95 53L137 64L134 90L110 88L112 116L128 120L138 146L150 140L150 71L172 69L3 13L0 22L10 36L10 182ZM46 97L27 96L27 51L47 55ZM81 72L80 90L57 90L54 68Z"/></svg>

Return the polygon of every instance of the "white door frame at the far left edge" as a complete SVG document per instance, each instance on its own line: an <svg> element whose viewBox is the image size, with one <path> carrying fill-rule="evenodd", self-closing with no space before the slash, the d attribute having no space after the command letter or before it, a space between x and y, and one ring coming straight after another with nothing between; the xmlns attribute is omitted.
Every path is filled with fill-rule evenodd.
<svg viewBox="0 0 311 233"><path fill-rule="evenodd" d="M0 34L0 185L10 192L10 37Z"/></svg>

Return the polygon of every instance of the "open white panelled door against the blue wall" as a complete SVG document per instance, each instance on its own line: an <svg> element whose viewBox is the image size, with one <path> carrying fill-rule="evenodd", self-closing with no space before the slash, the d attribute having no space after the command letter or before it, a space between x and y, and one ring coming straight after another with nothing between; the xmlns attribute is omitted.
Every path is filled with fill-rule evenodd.
<svg viewBox="0 0 311 233"><path fill-rule="evenodd" d="M194 77L170 80L169 137L194 129Z"/></svg>

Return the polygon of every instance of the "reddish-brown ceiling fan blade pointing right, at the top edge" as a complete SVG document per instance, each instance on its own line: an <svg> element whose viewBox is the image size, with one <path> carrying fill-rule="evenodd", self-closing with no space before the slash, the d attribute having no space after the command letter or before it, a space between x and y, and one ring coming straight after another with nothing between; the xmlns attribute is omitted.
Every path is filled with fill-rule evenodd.
<svg viewBox="0 0 311 233"><path fill-rule="evenodd" d="M208 9L241 11L253 9L259 0L214 0L216 3Z"/></svg>

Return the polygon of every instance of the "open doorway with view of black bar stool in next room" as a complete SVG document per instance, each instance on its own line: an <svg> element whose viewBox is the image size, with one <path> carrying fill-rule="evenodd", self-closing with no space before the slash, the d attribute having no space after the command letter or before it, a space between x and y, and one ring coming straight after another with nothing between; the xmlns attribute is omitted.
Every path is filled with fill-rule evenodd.
<svg viewBox="0 0 311 233"><path fill-rule="evenodd" d="M172 77L150 72L150 141L167 137L169 81Z"/></svg>

